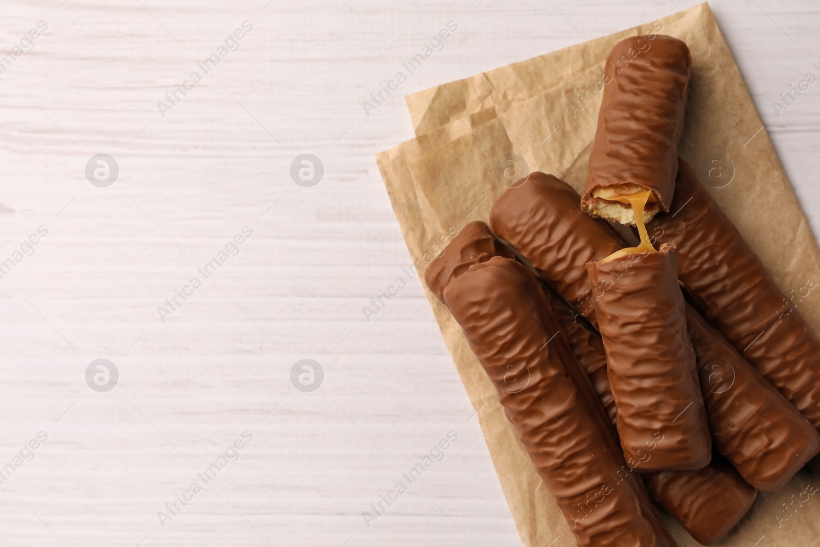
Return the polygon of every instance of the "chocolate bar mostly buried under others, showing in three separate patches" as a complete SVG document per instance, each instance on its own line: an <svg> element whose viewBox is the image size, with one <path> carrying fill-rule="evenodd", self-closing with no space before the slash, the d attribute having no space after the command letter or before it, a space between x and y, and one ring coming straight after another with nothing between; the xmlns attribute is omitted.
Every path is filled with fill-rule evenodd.
<svg viewBox="0 0 820 547"><path fill-rule="evenodd" d="M478 226L472 226L468 230L467 226L473 224ZM464 267L469 268L473 264L487 262L494 256L507 256L509 252L483 222L471 222L467 226L449 244L454 249L460 249L459 252L449 253L445 249L444 253L435 258L428 267L428 271L433 267L435 271L446 272L446 275L433 276L436 286L440 287L438 291L431 289L436 294L443 294L444 287L449 285L450 281L467 271ZM480 234L481 237L476 237L476 234ZM493 244L487 243L485 235L490 235L494 239ZM585 325L585 321L577 317L576 312L563 299L553 294L553 289L544 287L544 284L542 287L544 296L549 301L549 308L558 320L561 330L567 335L572 353L590 378L595 393L604 405L609 422L615 427L615 399L609 388L607 358L600 335ZM715 458L703 469L658 473L663 474L663 477L656 480L651 479L655 473L645 473L641 476L649 491L649 497L663 504L663 508L681 522L691 536L699 539L704 545L708 545L708 541L720 540L732 526L735 526L749 510L751 501L757 495L733 467L725 463L721 465ZM721 503L720 507L713 511L705 511L704 508L710 507L713 499Z"/></svg>

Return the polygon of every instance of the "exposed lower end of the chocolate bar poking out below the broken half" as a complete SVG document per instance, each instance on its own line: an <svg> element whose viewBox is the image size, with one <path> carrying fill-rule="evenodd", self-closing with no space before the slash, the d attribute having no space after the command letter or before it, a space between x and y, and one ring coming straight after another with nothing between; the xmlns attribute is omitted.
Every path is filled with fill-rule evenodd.
<svg viewBox="0 0 820 547"><path fill-rule="evenodd" d="M757 497L719 456L696 471L659 471L643 477L649 495L703 545L726 536Z"/></svg>

